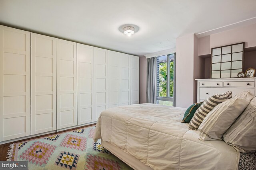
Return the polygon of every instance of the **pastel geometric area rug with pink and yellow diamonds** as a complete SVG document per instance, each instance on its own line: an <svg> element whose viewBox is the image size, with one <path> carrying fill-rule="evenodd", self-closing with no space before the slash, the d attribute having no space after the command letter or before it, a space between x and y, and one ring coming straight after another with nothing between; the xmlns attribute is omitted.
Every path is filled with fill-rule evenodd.
<svg viewBox="0 0 256 170"><path fill-rule="evenodd" d="M10 145L11 161L28 161L29 170L132 170L93 141L95 126Z"/></svg>

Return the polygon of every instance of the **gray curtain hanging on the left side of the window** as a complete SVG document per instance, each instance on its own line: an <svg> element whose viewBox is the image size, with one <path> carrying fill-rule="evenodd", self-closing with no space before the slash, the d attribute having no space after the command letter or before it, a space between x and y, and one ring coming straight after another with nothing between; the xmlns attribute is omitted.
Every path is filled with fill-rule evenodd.
<svg viewBox="0 0 256 170"><path fill-rule="evenodd" d="M156 57L147 59L146 103L156 104Z"/></svg>

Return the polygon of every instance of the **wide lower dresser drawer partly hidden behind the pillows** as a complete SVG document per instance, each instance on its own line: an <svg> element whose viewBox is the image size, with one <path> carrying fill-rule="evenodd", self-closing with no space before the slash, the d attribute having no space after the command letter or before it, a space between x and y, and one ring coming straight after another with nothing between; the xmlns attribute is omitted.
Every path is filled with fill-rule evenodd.
<svg viewBox="0 0 256 170"><path fill-rule="evenodd" d="M250 91L254 95L254 88L199 88L199 100L206 100L215 94L232 91L232 96L244 91ZM254 95L255 96L255 95Z"/></svg>

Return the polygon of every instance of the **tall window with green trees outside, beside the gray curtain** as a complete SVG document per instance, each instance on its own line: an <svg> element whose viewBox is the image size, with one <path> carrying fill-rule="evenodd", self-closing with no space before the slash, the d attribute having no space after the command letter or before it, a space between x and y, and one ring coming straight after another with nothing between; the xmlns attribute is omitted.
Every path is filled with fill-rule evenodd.
<svg viewBox="0 0 256 170"><path fill-rule="evenodd" d="M156 58L157 80L156 100L157 104L174 106L174 70L175 55L164 55Z"/></svg>

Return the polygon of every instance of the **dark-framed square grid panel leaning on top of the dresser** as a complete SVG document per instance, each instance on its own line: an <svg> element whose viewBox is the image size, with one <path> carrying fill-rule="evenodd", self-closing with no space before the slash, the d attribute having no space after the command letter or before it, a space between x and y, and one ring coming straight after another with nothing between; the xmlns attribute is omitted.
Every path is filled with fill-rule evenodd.
<svg viewBox="0 0 256 170"><path fill-rule="evenodd" d="M236 78L244 69L244 42L212 48L211 78Z"/></svg>

